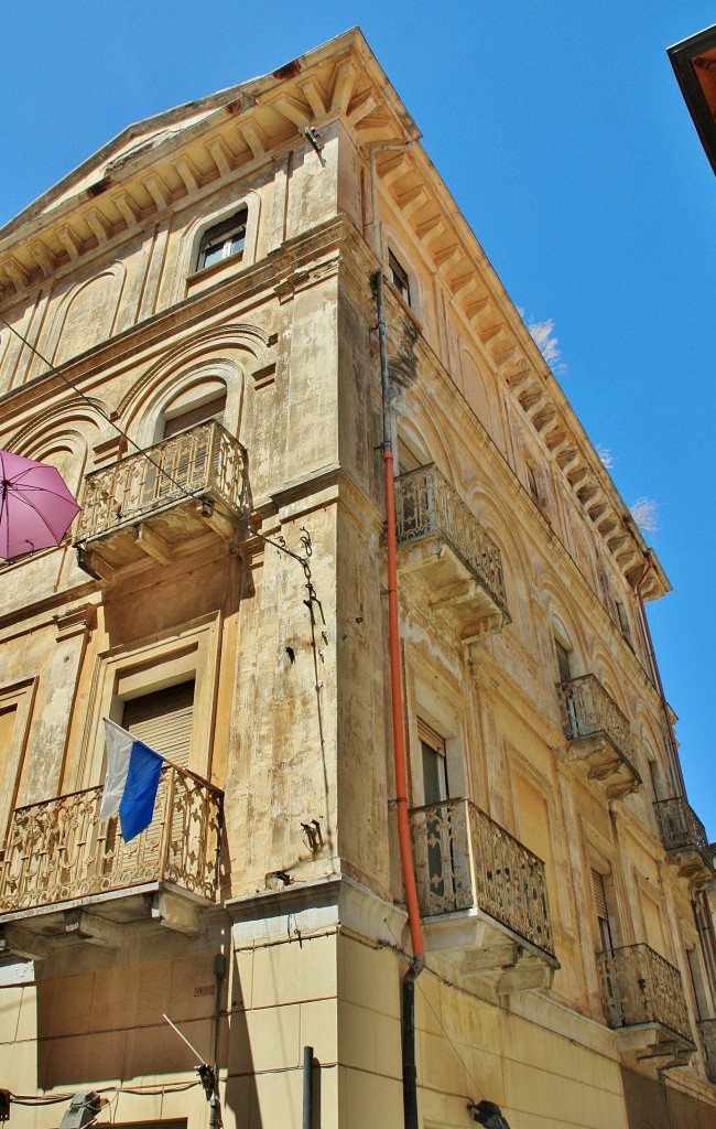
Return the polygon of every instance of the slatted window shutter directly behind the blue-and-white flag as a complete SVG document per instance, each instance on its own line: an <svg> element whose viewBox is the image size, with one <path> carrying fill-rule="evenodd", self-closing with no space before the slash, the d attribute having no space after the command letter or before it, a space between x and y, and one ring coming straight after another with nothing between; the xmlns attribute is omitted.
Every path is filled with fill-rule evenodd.
<svg viewBox="0 0 716 1129"><path fill-rule="evenodd" d="M174 764L189 767L194 680L124 703L122 725Z"/></svg>

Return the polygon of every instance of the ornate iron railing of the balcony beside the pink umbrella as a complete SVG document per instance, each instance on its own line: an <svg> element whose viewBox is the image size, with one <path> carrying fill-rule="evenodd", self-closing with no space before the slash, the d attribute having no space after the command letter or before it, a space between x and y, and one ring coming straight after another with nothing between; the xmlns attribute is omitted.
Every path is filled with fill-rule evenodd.
<svg viewBox="0 0 716 1129"><path fill-rule="evenodd" d="M85 479L74 542L108 533L183 501L209 497L246 510L245 452L215 420L129 455Z"/></svg>

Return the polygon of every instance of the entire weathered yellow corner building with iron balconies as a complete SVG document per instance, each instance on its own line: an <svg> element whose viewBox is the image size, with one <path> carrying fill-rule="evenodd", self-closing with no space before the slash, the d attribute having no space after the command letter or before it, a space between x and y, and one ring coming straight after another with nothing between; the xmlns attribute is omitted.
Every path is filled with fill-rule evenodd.
<svg viewBox="0 0 716 1129"><path fill-rule="evenodd" d="M306 1047L313 1126L403 1123L381 295L419 1123L713 1126L669 584L361 34L126 130L0 231L0 445L82 502L0 586L12 1129L88 1091L205 1126L165 1014L227 1127L301 1124ZM104 716L178 765L129 844Z"/></svg>

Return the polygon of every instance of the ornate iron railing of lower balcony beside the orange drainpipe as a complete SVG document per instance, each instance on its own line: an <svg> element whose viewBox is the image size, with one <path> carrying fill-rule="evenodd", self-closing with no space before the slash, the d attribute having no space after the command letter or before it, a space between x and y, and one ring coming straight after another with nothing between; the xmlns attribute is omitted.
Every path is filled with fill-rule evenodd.
<svg viewBox="0 0 716 1129"><path fill-rule="evenodd" d="M545 864L466 799L410 812L421 911L471 907L554 956Z"/></svg>

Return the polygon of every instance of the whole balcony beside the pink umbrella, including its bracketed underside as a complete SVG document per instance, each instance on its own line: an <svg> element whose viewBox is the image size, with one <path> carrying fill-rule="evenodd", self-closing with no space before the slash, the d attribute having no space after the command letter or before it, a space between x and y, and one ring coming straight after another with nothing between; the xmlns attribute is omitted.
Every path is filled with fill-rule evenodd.
<svg viewBox="0 0 716 1129"><path fill-rule="evenodd" d="M203 534L231 540L247 511L246 456L215 420L180 431L85 479L74 536L80 567L100 580L147 562L168 564Z"/></svg>

